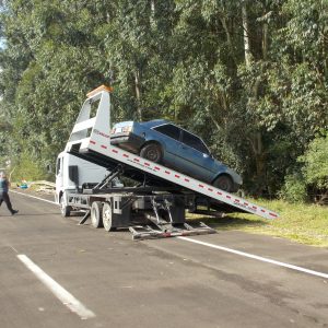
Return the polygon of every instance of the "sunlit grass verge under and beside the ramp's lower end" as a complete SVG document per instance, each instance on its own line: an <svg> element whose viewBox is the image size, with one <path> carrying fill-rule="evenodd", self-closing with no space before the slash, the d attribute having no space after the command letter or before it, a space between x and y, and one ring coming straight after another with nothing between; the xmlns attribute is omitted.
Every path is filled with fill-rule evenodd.
<svg viewBox="0 0 328 328"><path fill-rule="evenodd" d="M253 214L232 213L222 219L187 214L216 230L235 230L284 237L302 244L328 247L328 207L288 203L283 200L256 200L257 204L276 211L279 219L266 220Z"/></svg>

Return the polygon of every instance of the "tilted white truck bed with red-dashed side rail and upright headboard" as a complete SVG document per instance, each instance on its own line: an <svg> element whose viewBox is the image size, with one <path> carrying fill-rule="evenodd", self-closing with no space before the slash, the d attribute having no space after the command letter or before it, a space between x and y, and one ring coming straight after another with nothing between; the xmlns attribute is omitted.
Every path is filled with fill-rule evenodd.
<svg viewBox="0 0 328 328"><path fill-rule="evenodd" d="M96 114L91 117L92 106L97 105ZM66 152L96 163L108 169L118 164L124 167L124 175L136 180L148 180L157 186L180 186L224 203L236 211L245 211L266 219L277 219L278 213L253 203L235 195L206 184L164 165L148 161L133 153L110 144L110 98L107 90L96 90L89 94L66 147Z"/></svg>

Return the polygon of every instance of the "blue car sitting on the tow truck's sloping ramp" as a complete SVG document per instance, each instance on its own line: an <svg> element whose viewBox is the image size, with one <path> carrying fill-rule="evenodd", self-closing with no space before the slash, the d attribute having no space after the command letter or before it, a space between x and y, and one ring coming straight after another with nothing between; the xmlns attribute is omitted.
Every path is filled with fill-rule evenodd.
<svg viewBox="0 0 328 328"><path fill-rule="evenodd" d="M164 119L116 124L110 143L227 192L237 191L243 183L236 172L213 159L199 137Z"/></svg>

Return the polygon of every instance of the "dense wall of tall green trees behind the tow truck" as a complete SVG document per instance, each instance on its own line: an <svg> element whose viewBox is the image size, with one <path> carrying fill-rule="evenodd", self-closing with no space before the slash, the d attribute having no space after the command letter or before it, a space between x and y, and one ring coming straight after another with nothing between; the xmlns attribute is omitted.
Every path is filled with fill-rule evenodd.
<svg viewBox="0 0 328 328"><path fill-rule="evenodd" d="M327 129L326 1L8 0L0 15L2 155L54 162L109 80L116 121L199 133L251 194L276 195Z"/></svg>

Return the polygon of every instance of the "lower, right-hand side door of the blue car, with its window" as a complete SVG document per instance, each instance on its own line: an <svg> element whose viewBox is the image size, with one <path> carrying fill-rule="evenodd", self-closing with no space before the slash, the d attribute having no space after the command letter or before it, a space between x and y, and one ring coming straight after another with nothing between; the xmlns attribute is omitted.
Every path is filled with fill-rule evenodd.
<svg viewBox="0 0 328 328"><path fill-rule="evenodd" d="M181 130L179 148L180 161L186 174L195 178L211 183L213 179L214 160L203 141L197 136Z"/></svg>

